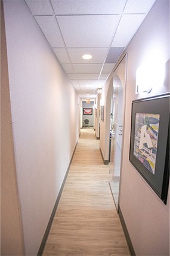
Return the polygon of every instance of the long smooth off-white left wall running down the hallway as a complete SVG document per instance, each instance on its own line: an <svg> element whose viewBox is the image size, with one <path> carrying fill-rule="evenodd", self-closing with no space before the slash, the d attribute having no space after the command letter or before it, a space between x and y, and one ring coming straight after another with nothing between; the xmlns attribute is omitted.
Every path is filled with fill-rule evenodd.
<svg viewBox="0 0 170 256"><path fill-rule="evenodd" d="M4 11L24 245L36 255L79 137L80 101L26 4L5 1Z"/></svg>

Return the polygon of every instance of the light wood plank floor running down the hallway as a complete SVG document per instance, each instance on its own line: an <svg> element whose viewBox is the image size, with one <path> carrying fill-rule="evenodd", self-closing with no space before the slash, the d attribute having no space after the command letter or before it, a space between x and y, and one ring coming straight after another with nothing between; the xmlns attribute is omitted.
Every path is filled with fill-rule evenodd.
<svg viewBox="0 0 170 256"><path fill-rule="evenodd" d="M94 130L81 129L43 255L130 255Z"/></svg>

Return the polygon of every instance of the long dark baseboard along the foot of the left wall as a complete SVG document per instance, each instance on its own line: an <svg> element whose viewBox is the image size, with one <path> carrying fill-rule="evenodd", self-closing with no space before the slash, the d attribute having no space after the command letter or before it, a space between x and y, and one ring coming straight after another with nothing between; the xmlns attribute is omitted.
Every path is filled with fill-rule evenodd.
<svg viewBox="0 0 170 256"><path fill-rule="evenodd" d="M76 146L77 146L78 142L76 143ZM57 210L57 206L58 206L58 203L60 201L60 197L61 197L61 194L63 192L63 188L64 188L64 184L66 182L66 179L67 179L67 175L69 173L69 170L70 170L70 165L72 164L72 160L73 160L73 156L75 154L75 150L76 150L76 146L75 146L75 149L73 151L73 155L72 155L72 158L70 160L70 163L69 163L69 167L67 168L67 171L66 171L66 174L64 176L64 180L63 180L63 183L61 185L61 188L60 188L60 191L58 193L58 196L57 196L57 200L55 201L55 204L54 204L54 208L52 210L52 213L51 213L51 216L50 216L50 220L48 221L48 225L47 225L47 228L45 230L45 234L44 234L44 237L42 239L42 242L41 242L41 245L39 247L39 251L38 251L38 254L37 256L41 256L43 251L44 251L44 247L45 247L45 243L47 242L47 239L48 239L48 234L50 233L50 228L51 228L51 225L52 225L52 221L54 219L54 216L55 216L55 212Z"/></svg>

